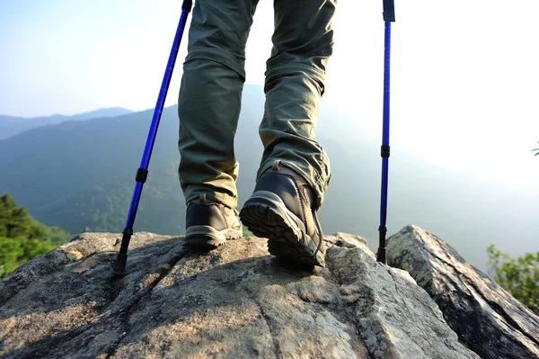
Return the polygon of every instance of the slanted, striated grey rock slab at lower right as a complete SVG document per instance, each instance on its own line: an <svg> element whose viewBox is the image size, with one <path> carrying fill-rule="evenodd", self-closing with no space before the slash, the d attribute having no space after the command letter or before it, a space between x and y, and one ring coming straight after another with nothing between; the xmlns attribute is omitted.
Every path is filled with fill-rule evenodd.
<svg viewBox="0 0 539 359"><path fill-rule="evenodd" d="M387 263L429 292L460 341L482 358L539 358L539 317L432 233L407 226Z"/></svg>

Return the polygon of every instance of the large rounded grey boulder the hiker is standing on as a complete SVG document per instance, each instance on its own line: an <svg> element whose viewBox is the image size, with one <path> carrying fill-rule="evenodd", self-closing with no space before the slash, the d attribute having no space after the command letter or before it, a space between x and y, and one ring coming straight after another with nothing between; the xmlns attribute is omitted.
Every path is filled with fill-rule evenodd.
<svg viewBox="0 0 539 359"><path fill-rule="evenodd" d="M328 236L325 268L264 238L209 254L181 237L84 233L0 282L2 358L477 358L410 274L357 236Z"/></svg>

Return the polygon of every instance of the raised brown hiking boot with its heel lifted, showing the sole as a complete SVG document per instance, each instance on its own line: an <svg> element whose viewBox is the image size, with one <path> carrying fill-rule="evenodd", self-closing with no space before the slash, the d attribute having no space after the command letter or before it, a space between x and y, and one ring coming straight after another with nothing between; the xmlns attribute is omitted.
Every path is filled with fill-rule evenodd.
<svg viewBox="0 0 539 359"><path fill-rule="evenodd" d="M257 237L268 238L270 254L306 265L324 266L323 232L306 181L277 161L261 175L240 218Z"/></svg>

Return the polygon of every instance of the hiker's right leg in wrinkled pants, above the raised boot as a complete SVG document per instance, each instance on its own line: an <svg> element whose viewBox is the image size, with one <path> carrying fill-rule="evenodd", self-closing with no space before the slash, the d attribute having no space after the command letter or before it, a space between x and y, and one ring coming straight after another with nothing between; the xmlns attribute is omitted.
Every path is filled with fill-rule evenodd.
<svg viewBox="0 0 539 359"><path fill-rule="evenodd" d="M336 0L275 0L276 28L260 127L264 154L257 177L280 159L312 185L319 206L331 174L314 134L333 47L335 5Z"/></svg>

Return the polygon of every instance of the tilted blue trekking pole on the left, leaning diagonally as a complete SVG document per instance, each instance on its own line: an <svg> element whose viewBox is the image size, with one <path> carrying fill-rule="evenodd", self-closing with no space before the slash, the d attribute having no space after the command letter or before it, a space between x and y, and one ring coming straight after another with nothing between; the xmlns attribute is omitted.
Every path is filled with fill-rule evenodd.
<svg viewBox="0 0 539 359"><path fill-rule="evenodd" d="M123 230L123 237L121 238L121 246L119 247L119 254L116 257L116 263L114 264L114 274L124 275L126 273L126 264L128 262L128 247L129 240L133 236L133 224L135 223L135 217L137 216L138 202L140 201L140 194L142 193L142 186L146 182L148 175L148 165L150 164L150 157L152 156L152 150L154 149L155 135L157 135L157 128L159 127L159 121L161 121L161 113L163 112L164 99L168 92L168 87L171 83L172 70L174 69L174 63L178 56L178 49L180 48L181 36L185 29L185 23L189 16L192 0L183 0L181 4L181 17L178 29L176 30L176 36L172 43L171 55L169 56L166 64L166 70L164 71L163 83L161 84L161 90L159 91L159 97L155 104L154 117L152 118L152 124L148 132L146 139L146 146L144 153L142 154L142 160L140 167L137 170L137 176L135 177L135 190L133 191L133 198L131 199L131 205L129 206L128 220L126 222L126 228Z"/></svg>

